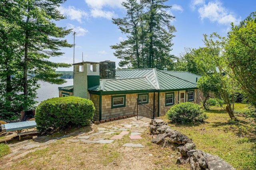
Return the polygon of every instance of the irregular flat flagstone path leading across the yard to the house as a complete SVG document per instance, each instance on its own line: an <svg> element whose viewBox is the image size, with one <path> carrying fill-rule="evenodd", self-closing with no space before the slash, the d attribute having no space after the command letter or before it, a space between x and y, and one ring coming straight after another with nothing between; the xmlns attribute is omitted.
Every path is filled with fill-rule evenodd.
<svg viewBox="0 0 256 170"><path fill-rule="evenodd" d="M11 153L3 157L3 159L8 159L8 163L5 164L4 167L10 166L13 163L13 160L22 158L26 156L26 154L38 149L44 149L47 145L54 143L59 139L70 143L104 143L111 145L113 141L121 140L125 135L128 135L131 140L129 143L122 145L123 147L144 147L141 144L138 144L138 142L136 142L137 144L134 144L132 141L142 139L140 135L142 135L145 130L148 130L151 119L144 117L143 119L136 120L136 117L130 117L127 119L117 120L118 124L114 123L115 126L112 126L111 122L112 121L101 123L99 125L93 124L90 127L92 129L91 131L81 132L76 135L64 135L55 139L53 139L52 136L41 136L35 137L35 139L28 139L8 144Z"/></svg>

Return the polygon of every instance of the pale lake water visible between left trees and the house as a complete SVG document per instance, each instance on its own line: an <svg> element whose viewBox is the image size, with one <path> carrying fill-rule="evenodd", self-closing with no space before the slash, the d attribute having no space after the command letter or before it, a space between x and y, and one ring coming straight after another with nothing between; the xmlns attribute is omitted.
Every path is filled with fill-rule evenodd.
<svg viewBox="0 0 256 170"><path fill-rule="evenodd" d="M59 84L50 84L48 82L39 81L38 83L40 83L40 88L38 90L36 90L37 97L38 97L38 98L36 98L36 101L38 102L38 104L40 104L40 102L42 102L46 99L59 97L58 87L73 85L73 79L65 79L65 80L67 82L64 84L60 84L60 85Z"/></svg>

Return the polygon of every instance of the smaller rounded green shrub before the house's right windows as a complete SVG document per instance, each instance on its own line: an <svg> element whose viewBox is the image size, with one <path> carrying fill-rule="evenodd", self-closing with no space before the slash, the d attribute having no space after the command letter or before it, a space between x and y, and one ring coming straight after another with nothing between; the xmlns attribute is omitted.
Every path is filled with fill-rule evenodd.
<svg viewBox="0 0 256 170"><path fill-rule="evenodd" d="M174 123L203 122L207 118L204 110L198 104L191 102L180 103L172 106L166 113L167 118Z"/></svg>

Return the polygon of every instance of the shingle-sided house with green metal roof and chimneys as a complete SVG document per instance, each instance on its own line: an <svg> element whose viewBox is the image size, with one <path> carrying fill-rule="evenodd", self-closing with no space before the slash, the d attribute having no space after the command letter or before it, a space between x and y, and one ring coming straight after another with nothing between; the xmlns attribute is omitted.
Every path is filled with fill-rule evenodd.
<svg viewBox="0 0 256 170"><path fill-rule="evenodd" d="M159 117L179 102L201 101L196 86L200 76L196 74L156 68L115 70L113 63L74 64L74 85L60 87L60 97L74 95L92 100L95 121L140 114L141 104Z"/></svg>

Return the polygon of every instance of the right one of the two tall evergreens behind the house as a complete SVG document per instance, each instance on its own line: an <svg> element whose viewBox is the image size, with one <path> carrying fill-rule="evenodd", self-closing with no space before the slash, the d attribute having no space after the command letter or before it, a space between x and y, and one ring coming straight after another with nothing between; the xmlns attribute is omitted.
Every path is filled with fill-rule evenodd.
<svg viewBox="0 0 256 170"><path fill-rule="evenodd" d="M170 25L170 21L174 16L168 14L166 9L172 6L164 5L168 0L142 0L143 6L146 6L146 20L148 25L146 47L148 49L148 68L162 69L172 63L172 55L170 55L172 37L175 27Z"/></svg>

